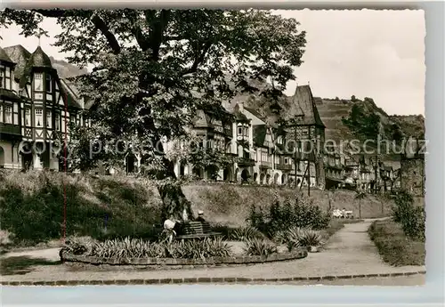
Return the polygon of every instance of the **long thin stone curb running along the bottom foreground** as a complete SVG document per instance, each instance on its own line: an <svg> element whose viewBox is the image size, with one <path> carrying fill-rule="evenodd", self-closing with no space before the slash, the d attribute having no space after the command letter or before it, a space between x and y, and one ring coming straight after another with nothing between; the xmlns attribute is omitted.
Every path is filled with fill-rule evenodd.
<svg viewBox="0 0 445 307"><path fill-rule="evenodd" d="M109 280L54 280L54 281L0 281L2 286L85 286L85 285L167 285L167 284L208 284L208 283L255 283L255 282L284 282L304 280L333 280L333 279L363 279L378 277L400 277L423 275L426 271L407 271L379 274L355 274L336 276L308 276L281 279L250 279L250 278L183 278L183 279L109 279Z"/></svg>

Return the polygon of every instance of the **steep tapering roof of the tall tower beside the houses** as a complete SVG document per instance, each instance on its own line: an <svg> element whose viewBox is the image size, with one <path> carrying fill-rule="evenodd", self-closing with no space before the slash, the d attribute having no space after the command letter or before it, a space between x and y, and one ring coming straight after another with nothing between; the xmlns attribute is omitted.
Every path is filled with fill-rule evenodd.
<svg viewBox="0 0 445 307"><path fill-rule="evenodd" d="M296 86L295 94L290 105L287 119L299 118L300 125L320 125L325 126L321 121L319 110L315 105L309 85Z"/></svg>

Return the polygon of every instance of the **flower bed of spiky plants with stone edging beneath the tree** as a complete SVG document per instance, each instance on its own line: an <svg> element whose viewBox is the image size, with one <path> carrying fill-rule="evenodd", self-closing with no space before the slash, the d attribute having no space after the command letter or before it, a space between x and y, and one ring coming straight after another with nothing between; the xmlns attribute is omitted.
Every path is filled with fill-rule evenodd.
<svg viewBox="0 0 445 307"><path fill-rule="evenodd" d="M263 242L263 241L262 241ZM260 247L262 244L259 245ZM61 261L95 265L142 265L149 267L194 267L268 263L303 258L304 248L291 253L233 254L231 246L222 238L150 242L139 238L97 241L91 238L70 238L61 249Z"/></svg>

